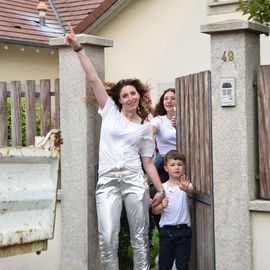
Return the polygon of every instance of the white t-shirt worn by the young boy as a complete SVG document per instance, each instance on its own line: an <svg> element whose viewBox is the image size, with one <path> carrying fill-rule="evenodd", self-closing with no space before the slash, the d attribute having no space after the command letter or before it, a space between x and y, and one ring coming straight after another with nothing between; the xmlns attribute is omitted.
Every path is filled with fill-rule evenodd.
<svg viewBox="0 0 270 270"><path fill-rule="evenodd" d="M178 186L168 186L168 181L162 185L165 190L165 198L169 198L169 204L161 212L159 226L187 224L190 227L187 193ZM191 183L190 185L192 186Z"/></svg>

